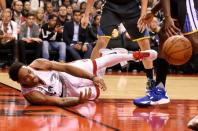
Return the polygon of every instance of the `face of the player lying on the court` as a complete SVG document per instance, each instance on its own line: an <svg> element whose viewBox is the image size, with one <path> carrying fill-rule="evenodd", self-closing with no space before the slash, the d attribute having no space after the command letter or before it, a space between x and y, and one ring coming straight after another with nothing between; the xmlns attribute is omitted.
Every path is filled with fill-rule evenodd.
<svg viewBox="0 0 198 131"><path fill-rule="evenodd" d="M39 84L39 78L26 66L22 66L19 70L19 83L24 86L36 86Z"/></svg>

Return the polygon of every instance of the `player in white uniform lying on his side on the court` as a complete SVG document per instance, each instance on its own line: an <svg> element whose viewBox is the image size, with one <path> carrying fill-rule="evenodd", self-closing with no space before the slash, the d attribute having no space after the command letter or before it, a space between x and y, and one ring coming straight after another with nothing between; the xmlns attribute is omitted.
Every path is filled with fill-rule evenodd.
<svg viewBox="0 0 198 131"><path fill-rule="evenodd" d="M100 89L106 90L99 70L129 60L154 60L154 50L104 55L95 60L83 59L59 63L36 59L29 66L14 63L9 69L12 80L21 85L25 99L34 105L74 106L95 100ZM115 53L115 52L114 52ZM99 89L100 88L100 89Z"/></svg>

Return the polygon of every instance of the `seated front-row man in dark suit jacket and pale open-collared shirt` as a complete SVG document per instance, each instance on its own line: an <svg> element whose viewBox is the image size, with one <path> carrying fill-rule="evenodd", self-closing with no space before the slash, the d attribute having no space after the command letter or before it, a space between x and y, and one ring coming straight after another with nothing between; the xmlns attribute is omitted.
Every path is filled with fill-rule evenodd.
<svg viewBox="0 0 198 131"><path fill-rule="evenodd" d="M80 10L73 11L73 21L64 25L63 40L73 60L90 58L92 45L87 42L87 30L80 25Z"/></svg>

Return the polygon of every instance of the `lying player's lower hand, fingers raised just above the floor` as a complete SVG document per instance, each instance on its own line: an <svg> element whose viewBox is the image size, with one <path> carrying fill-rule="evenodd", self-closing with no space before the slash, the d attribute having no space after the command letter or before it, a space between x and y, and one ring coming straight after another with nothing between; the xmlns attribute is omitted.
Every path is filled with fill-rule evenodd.
<svg viewBox="0 0 198 131"><path fill-rule="evenodd" d="M80 92L80 96L79 96L79 102L80 103L85 103L89 100L89 98L91 97L91 88L89 88L88 90L85 89L85 92L83 93L83 91Z"/></svg>

